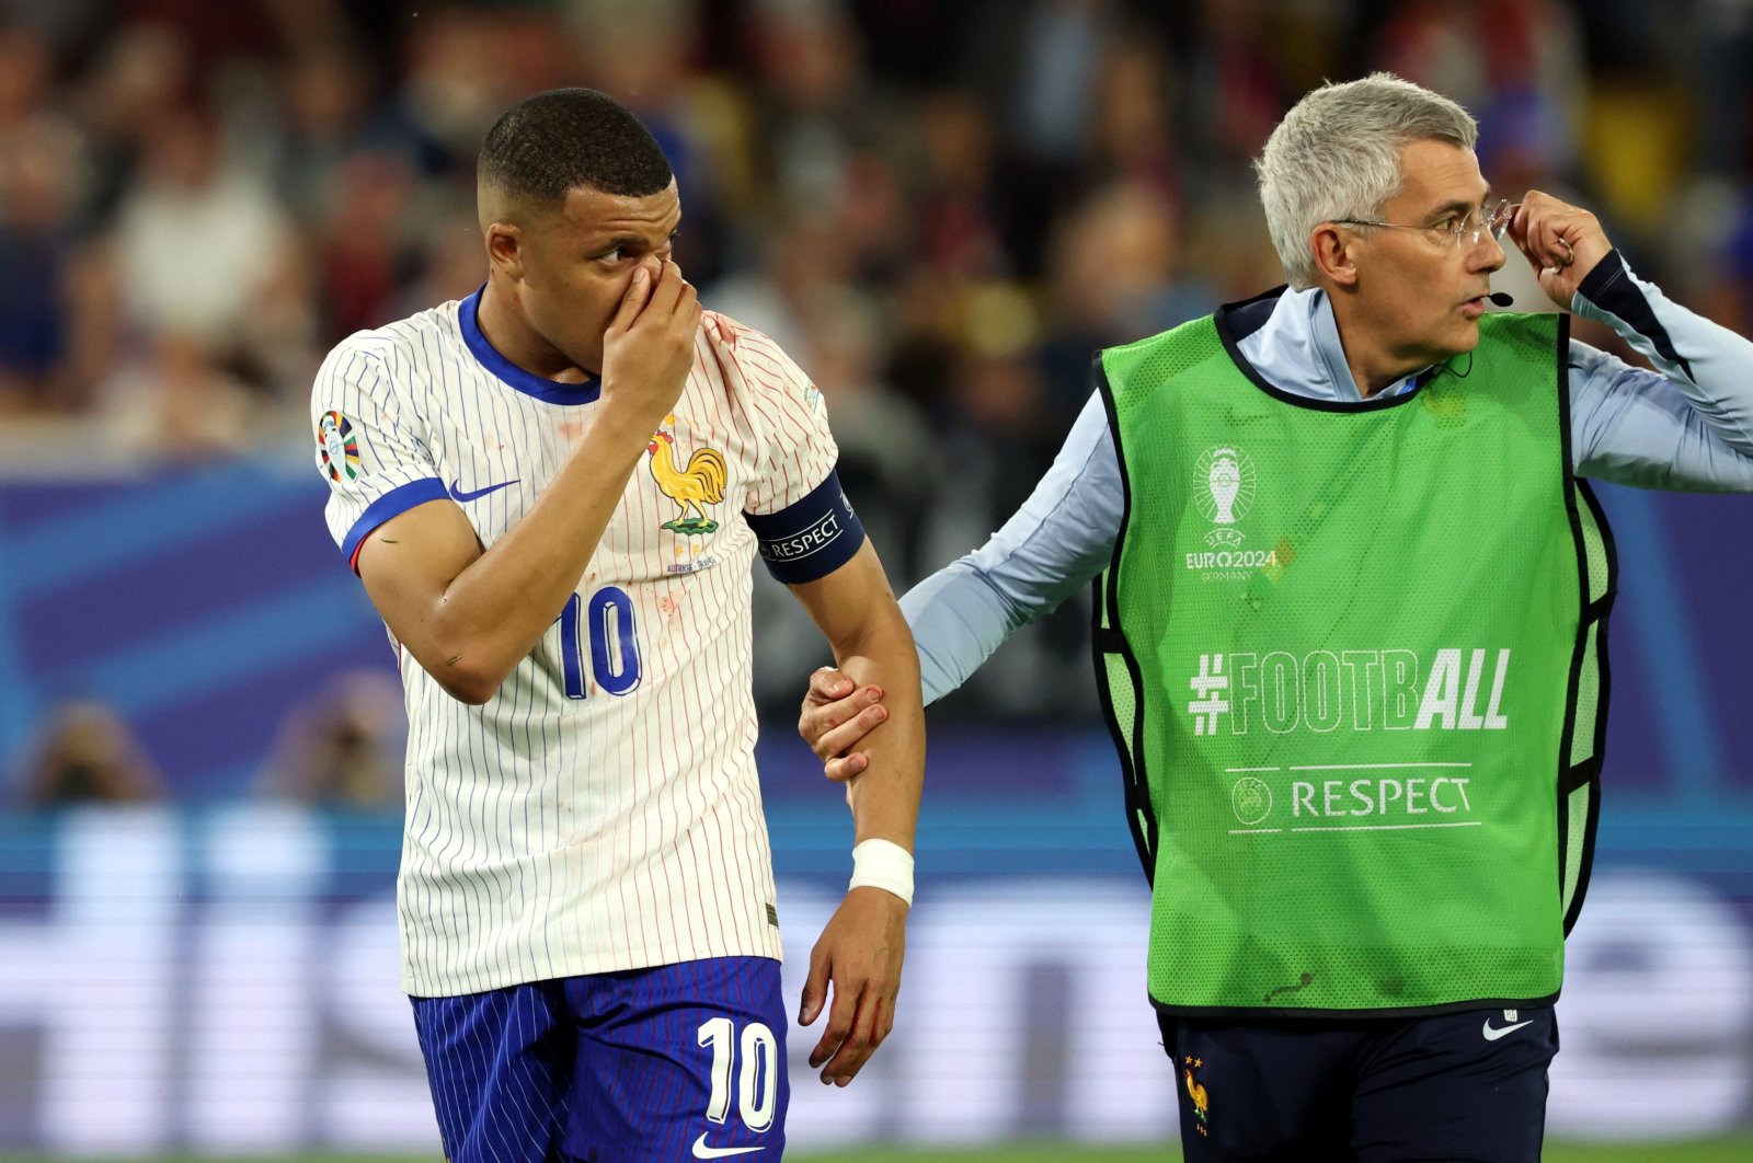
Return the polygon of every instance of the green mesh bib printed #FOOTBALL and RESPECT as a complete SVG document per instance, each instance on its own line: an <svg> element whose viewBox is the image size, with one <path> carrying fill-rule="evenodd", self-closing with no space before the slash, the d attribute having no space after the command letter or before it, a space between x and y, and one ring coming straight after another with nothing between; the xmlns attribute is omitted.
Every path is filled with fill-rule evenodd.
<svg viewBox="0 0 1753 1163"><path fill-rule="evenodd" d="M1606 548L1565 504L1557 324L1483 329L1466 377L1381 408L1276 399L1211 319L1103 356L1129 489L1103 615L1139 680L1103 674L1157 818L1162 1007L1558 988L1588 837L1560 869L1555 757Z"/></svg>

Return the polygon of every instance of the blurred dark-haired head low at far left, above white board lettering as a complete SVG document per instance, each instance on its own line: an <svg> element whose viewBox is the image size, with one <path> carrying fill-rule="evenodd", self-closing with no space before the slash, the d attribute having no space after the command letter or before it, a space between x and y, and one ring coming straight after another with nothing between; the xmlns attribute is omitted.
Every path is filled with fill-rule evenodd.
<svg viewBox="0 0 1753 1163"><path fill-rule="evenodd" d="M126 720L102 702L53 711L25 769L25 799L35 807L153 800L163 790Z"/></svg>

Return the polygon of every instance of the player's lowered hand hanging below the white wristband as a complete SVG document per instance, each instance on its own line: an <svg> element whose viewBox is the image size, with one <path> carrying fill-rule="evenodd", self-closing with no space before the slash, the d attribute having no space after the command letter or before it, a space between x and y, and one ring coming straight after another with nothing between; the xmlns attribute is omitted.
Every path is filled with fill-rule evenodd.
<svg viewBox="0 0 1753 1163"><path fill-rule="evenodd" d="M822 1082L850 1082L894 1028L906 914L908 904L894 893L854 888L810 951L798 1025L806 1026L820 1016L833 986L827 1026L810 1051L810 1067L822 1068Z"/></svg>

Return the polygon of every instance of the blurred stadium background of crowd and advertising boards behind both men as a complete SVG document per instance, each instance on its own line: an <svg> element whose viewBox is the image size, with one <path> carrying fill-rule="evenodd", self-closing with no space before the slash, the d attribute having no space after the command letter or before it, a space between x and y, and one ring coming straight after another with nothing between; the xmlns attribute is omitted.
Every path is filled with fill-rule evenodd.
<svg viewBox="0 0 1753 1163"><path fill-rule="evenodd" d="M812 371L905 587L1027 494L1094 347L1281 280L1248 159L1324 77L1458 98L1497 189L1583 201L1753 331L1749 49L1746 0L0 0L0 1151L435 1144L394 995L400 695L307 399L338 338L479 285L473 152L510 102L591 84L657 131L684 270ZM1728 1158L1749 511L1604 494L1615 720L1551 1130ZM933 711L899 1028L833 1093L794 1037L796 1154L1169 1140L1085 618ZM813 631L773 585L757 627L801 960L850 828L792 732Z"/></svg>

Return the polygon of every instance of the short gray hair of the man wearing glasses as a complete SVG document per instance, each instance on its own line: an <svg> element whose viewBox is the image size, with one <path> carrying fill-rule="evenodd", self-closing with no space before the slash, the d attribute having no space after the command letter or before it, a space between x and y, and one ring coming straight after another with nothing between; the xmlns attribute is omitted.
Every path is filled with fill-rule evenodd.
<svg viewBox="0 0 1753 1163"><path fill-rule="evenodd" d="M1297 102L1253 172L1290 285L1315 285L1309 235L1334 219L1378 219L1401 193L1401 147L1448 142L1473 149L1480 124L1466 109L1394 74L1327 82Z"/></svg>

